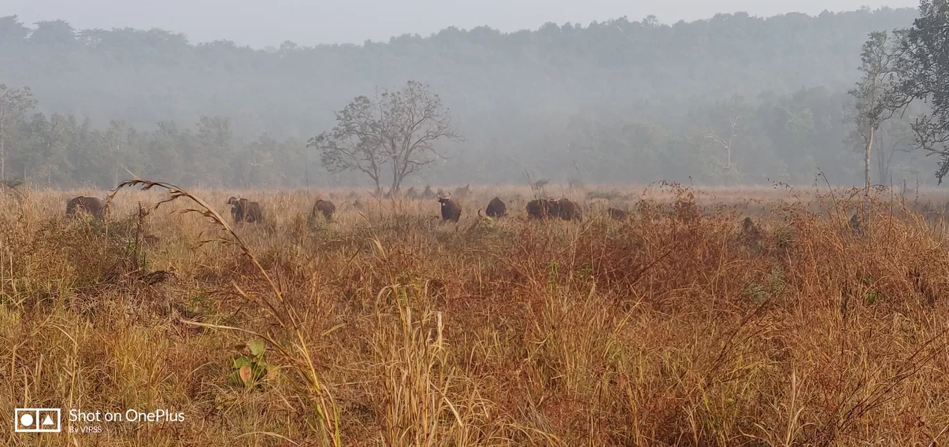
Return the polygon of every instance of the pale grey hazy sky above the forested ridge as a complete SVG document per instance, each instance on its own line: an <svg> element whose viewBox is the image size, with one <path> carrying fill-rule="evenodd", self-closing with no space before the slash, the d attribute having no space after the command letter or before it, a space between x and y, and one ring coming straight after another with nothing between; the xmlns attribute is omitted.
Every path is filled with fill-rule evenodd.
<svg viewBox="0 0 949 447"><path fill-rule="evenodd" d="M864 5L915 8L919 0L0 0L0 16L17 14L28 25L64 19L74 28L164 28L187 34L193 43L229 39L278 47L285 40L303 46L388 41L449 26L513 31L623 15L635 21L649 14L674 23L716 12L817 14Z"/></svg>

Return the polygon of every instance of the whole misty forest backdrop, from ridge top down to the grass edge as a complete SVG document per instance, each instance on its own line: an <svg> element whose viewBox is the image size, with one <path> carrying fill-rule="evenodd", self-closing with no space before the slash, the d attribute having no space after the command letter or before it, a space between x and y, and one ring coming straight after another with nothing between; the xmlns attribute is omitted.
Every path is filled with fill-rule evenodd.
<svg viewBox="0 0 949 447"><path fill-rule="evenodd" d="M408 183L520 182L525 170L587 183L800 184L818 171L860 183L847 89L861 45L916 16L621 18L265 50L2 17L0 84L28 85L37 100L3 137L4 171L57 186L110 186L126 170L182 185L365 185L328 175L306 141L354 97L414 80L464 140ZM875 177L934 184L907 120L884 124Z"/></svg>

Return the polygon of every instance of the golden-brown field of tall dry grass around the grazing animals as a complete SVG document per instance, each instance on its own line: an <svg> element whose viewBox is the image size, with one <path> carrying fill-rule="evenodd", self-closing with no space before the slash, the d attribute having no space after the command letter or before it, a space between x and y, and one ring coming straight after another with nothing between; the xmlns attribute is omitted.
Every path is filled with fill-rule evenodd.
<svg viewBox="0 0 949 447"><path fill-rule="evenodd" d="M582 222L538 222L530 189L473 187L457 224L362 191L140 216L169 193L128 187L105 222L63 216L104 192L5 193L0 444L945 445L946 200L876 192L854 232L858 192L801 191L572 190ZM493 196L511 215L478 218ZM63 432L13 433L14 407Z"/></svg>

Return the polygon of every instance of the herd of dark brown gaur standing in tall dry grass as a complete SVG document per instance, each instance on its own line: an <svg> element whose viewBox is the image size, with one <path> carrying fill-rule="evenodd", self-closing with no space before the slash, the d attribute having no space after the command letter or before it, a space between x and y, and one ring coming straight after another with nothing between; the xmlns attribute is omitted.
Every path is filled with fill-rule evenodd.
<svg viewBox="0 0 949 447"><path fill-rule="evenodd" d="M461 205L449 194L438 194L438 203L441 204L441 219L444 221L457 222L461 217ZM247 198L230 197L227 201L231 205L231 214L235 222L259 223L264 221L264 214L261 211L260 203L251 201ZM97 197L78 196L66 204L65 214L74 215L79 211L92 214L102 218L105 212L105 201ZM488 202L484 209L485 215L492 218L504 217L508 214L508 206L500 197L494 197ZM323 215L327 219L336 212L336 205L329 200L319 199L313 204L310 211L310 217ZM530 200L527 205L527 213L530 217L536 219L561 218L564 220L583 220L583 211L580 205L570 201L568 198L537 198ZM616 208L607 210L607 214L615 219L626 218L626 212ZM481 215L481 210L478 210Z"/></svg>

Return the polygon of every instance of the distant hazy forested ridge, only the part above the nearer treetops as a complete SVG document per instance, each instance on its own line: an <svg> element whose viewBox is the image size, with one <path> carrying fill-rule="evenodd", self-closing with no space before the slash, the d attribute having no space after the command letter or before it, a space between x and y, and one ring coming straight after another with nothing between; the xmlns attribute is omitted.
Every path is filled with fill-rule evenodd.
<svg viewBox="0 0 949 447"><path fill-rule="evenodd" d="M672 26L621 18L513 33L446 28L363 46L287 43L276 51L225 41L190 45L159 29L74 30L47 22L30 32L8 17L0 22L0 81L29 85L41 110L96 122L154 127L222 115L238 135L306 137L353 97L409 79L431 84L462 121L497 111L622 109L643 99L732 90L846 88L866 34L908 26L915 16L915 9L737 13Z"/></svg>

